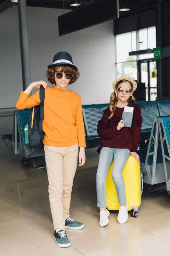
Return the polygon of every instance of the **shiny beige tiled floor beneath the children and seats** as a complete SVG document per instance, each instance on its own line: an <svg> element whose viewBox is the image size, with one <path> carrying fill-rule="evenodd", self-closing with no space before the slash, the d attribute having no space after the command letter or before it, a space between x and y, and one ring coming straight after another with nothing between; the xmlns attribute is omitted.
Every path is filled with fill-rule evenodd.
<svg viewBox="0 0 170 256"><path fill-rule="evenodd" d="M0 117L0 134L11 132L12 117ZM95 174L98 154L87 150L87 162L77 169L71 217L82 230L69 230L71 247L54 241L45 169L21 165L0 140L0 256L170 256L170 196L158 192L142 197L137 219L120 225L111 212L107 227L99 227Z"/></svg>

